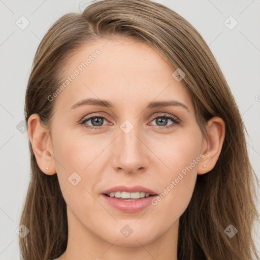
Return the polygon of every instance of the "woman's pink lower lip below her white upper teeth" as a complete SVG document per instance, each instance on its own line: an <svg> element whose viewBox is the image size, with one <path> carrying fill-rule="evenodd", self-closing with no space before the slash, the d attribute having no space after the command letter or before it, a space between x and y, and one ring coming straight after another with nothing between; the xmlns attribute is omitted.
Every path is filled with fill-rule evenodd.
<svg viewBox="0 0 260 260"><path fill-rule="evenodd" d="M115 197L111 198L102 194L102 197L106 200L106 202L112 207L128 213L135 213L147 208L151 205L151 201L156 197L156 195L141 198L135 201L124 201L120 199L116 199Z"/></svg>

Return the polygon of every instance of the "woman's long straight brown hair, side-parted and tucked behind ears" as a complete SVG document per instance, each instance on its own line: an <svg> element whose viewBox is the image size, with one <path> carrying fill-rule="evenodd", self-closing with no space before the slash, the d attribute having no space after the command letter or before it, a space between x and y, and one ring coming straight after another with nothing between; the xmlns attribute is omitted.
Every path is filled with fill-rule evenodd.
<svg viewBox="0 0 260 260"><path fill-rule="evenodd" d="M225 122L225 139L212 171L198 175L191 201L180 217L178 259L245 260L258 257L252 238L256 175L250 165L246 129L230 88L199 32L171 9L149 0L94 2L82 14L58 19L41 41L33 62L25 98L25 120L38 113L51 124L66 62L84 44L115 35L135 37L155 46L174 68L185 73L183 85L191 96L204 135L213 116ZM21 258L49 260L66 250L68 220L57 174L46 175L31 154L31 180L20 224L29 234L20 238ZM258 182L257 182L258 185ZM238 233L224 232L232 224Z"/></svg>

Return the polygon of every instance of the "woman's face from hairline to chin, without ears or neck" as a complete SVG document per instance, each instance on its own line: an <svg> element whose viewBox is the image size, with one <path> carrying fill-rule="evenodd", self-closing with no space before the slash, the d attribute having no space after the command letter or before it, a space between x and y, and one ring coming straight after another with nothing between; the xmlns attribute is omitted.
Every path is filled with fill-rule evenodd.
<svg viewBox="0 0 260 260"><path fill-rule="evenodd" d="M70 58L62 91L53 95L51 143L78 234L140 246L178 228L203 137L174 71L154 47L125 38L96 41ZM111 191L133 191L132 200L104 194ZM145 191L155 195L133 200Z"/></svg>

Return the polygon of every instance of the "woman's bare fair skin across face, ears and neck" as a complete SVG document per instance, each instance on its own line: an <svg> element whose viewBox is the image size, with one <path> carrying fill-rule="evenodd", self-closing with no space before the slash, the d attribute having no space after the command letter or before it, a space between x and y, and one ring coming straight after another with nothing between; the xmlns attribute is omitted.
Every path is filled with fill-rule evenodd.
<svg viewBox="0 0 260 260"><path fill-rule="evenodd" d="M207 126L209 138L203 138L190 97L182 81L172 77L175 69L166 59L140 41L107 41L86 45L70 58L66 77L96 49L101 51L55 98L51 133L41 126L38 114L28 121L37 163L45 174L57 174L67 203L68 246L57 259L177 260L179 218L198 174L207 174L216 164L224 122L213 117ZM114 108L71 109L88 98L110 101ZM188 110L177 105L146 108L149 102L172 100ZM96 129L80 124L94 114L106 118L102 128L94 120L84 124ZM179 123L161 114L177 117ZM125 120L134 127L127 134L120 128ZM159 124L161 120L166 123ZM160 194L200 154L204 157L157 205L128 213L102 198L102 191L118 185L142 185ZM81 177L76 186L68 180L73 172ZM133 230L128 237L120 232L126 224Z"/></svg>

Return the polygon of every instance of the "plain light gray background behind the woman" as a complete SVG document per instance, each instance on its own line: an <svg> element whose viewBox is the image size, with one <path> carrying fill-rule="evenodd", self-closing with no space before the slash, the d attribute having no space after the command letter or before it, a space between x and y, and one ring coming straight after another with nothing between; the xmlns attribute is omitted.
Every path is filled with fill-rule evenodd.
<svg viewBox="0 0 260 260"><path fill-rule="evenodd" d="M251 163L260 177L260 1L156 2L187 19L210 46L239 106L249 135ZM24 96L32 59L54 21L68 12L83 11L88 3L90 1L0 0L0 259L19 259L16 229L27 192L30 165L27 132L20 133L16 126L24 119ZM24 30L16 25L21 16L29 21ZM230 16L238 21L232 30L224 24ZM232 20L227 22L230 26L234 24ZM256 206L259 212L258 203L260 198ZM254 241L260 251L259 235L255 235Z"/></svg>

